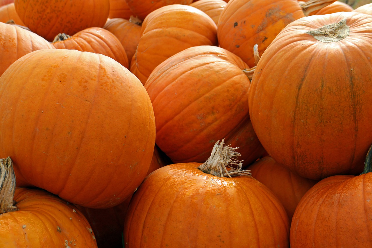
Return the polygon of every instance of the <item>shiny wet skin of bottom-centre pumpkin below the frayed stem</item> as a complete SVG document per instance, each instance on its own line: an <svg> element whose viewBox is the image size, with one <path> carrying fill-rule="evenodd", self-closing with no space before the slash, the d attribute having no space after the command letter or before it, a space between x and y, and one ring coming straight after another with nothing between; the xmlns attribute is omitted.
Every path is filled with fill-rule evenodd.
<svg viewBox="0 0 372 248"><path fill-rule="evenodd" d="M215 177L199 165L148 175L129 204L126 248L289 247L288 216L266 186L252 177Z"/></svg>

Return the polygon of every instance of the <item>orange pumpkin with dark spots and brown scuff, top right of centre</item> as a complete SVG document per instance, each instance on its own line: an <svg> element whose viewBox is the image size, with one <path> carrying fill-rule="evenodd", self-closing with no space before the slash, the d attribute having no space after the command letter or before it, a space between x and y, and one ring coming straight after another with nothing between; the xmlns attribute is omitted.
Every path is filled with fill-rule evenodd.
<svg viewBox="0 0 372 248"><path fill-rule="evenodd" d="M304 16L297 0L231 0L218 22L219 46L253 67L253 46L262 55L286 25Z"/></svg>

